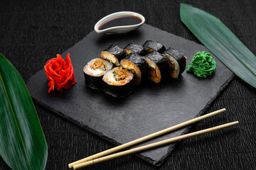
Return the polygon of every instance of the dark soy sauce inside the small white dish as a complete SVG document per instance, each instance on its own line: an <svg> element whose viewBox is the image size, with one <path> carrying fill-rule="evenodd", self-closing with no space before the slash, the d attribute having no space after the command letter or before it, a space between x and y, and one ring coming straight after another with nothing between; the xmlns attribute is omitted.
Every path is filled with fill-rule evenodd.
<svg viewBox="0 0 256 170"><path fill-rule="evenodd" d="M117 16L102 23L98 30L105 30L114 26L132 26L138 23L142 23L142 19L137 16Z"/></svg>

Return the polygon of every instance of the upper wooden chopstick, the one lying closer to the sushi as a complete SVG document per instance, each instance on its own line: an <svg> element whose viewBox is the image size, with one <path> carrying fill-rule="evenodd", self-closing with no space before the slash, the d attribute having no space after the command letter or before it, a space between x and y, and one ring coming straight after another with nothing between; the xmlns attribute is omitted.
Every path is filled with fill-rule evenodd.
<svg viewBox="0 0 256 170"><path fill-rule="evenodd" d="M170 128L166 128L166 129L164 129L164 130L160 130L159 132L154 132L154 133L152 133L151 135L146 135L146 136L141 137L141 138L139 138L139 139L137 139L137 140L132 140L131 142L127 142L127 143L125 143L125 144L123 144L123 145L119 145L119 146L117 146L117 147L113 147L113 148L111 148L111 149L107 149L107 150L105 150L105 151L103 151L103 152L100 152L100 153L97 153L97 154L93 154L93 155L90 156L90 157L85 157L84 159L80 159L80 160L78 160L78 161L76 161L76 162L73 162L73 163L68 164L68 166L69 166L70 168L72 168L75 164L81 164L82 162L87 162L87 161L90 161L90 160L92 160L92 159L96 159L96 158L98 158L98 157L103 157L103 156L105 156L105 155L107 155L107 154L110 154L110 153L112 153L112 152L116 152L116 151L118 151L118 150L120 150L120 149L124 149L124 148L130 147L130 146L132 146L132 145L136 145L136 144L138 144L138 143L140 143L140 142L144 142L144 141L150 140L150 139L152 139L152 138L154 138L154 137L158 137L158 136L160 136L160 135L164 135L164 134L167 133L167 132L171 132L171 131L173 131L173 130L177 130L177 129L179 129L179 128L183 128L183 127L185 127L185 126L187 126L187 125L191 125L192 123L196 123L196 122L198 122L198 121L200 121L200 120L209 118L209 117L211 117L211 116L213 116L213 115L217 115L217 114L219 114L219 113L223 113L224 111L226 111L225 108L220 109L220 110L218 110L218 111L214 111L214 112L212 112L212 113L208 113L208 114L206 114L206 115L202 115L202 116L200 116L200 117L198 117L198 118L193 118L193 119L191 119L191 120L188 120L188 121L186 121L186 122L180 123L180 124L178 124L178 125L174 125L174 126L172 126L172 127L170 127Z"/></svg>

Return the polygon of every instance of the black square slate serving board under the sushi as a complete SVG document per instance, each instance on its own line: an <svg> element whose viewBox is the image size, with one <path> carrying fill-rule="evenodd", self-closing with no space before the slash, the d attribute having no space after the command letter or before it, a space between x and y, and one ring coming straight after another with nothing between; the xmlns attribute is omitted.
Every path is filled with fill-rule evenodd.
<svg viewBox="0 0 256 170"><path fill-rule="evenodd" d="M124 47L129 42L135 42L142 45L146 40L162 42L166 48L174 47L188 57L187 64L196 52L208 52L203 45L147 24L127 34L99 35L92 31L62 54L65 57L70 53L78 82L75 86L48 94L46 74L41 70L27 82L28 91L33 99L50 111L119 145L203 114L233 78L232 72L211 54L217 62L217 69L213 77L208 79L184 72L180 79L161 84L148 81L124 98L112 98L85 88L82 68L92 58L100 57L101 50L111 44ZM176 130L141 145L175 137L187 130ZM174 146L151 149L137 156L158 166Z"/></svg>

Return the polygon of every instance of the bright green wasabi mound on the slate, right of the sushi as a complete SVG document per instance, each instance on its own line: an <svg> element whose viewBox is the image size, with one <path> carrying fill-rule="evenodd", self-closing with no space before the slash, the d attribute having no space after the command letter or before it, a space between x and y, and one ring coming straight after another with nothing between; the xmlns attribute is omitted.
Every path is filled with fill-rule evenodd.
<svg viewBox="0 0 256 170"><path fill-rule="evenodd" d="M190 64L188 64L187 72L193 72L197 77L210 77L216 69L216 62L210 53L197 52Z"/></svg>

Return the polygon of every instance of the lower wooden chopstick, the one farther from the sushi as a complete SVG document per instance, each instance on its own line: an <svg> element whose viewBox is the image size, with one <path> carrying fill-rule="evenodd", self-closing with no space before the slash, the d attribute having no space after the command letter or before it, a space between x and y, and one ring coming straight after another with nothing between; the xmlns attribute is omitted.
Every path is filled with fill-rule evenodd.
<svg viewBox="0 0 256 170"><path fill-rule="evenodd" d="M178 137L173 137L173 138L170 138L168 140L162 140L160 142L155 142L155 143L152 143L152 144L149 144L149 145L144 145L142 147L136 147L134 149L129 149L127 151L124 151L124 152L119 152L117 154L110 154L106 157L100 157L100 158L97 158L97 159L93 159L89 162L84 162L82 164L76 164L75 166L73 166L74 169L79 169L79 168L82 168L82 167L85 167L85 166L89 166L91 164L97 164L99 162L105 162L107 160L110 160L110 159L114 159L114 158L117 158L117 157L123 157L127 154L133 154L135 152L141 152L141 151L144 151L146 149L151 149L151 148L154 148L154 147L160 147L162 145L167 145L171 142L176 142L178 140L183 140L183 139L186 139L188 137L193 137L193 136L197 136L197 135L202 135L204 133L207 133L207 132L212 132L214 130L220 130L220 129L223 129L223 128L228 128L232 125L237 125L239 122L238 121L235 121L233 123L226 123L226 124L223 124L223 125L218 125L218 126L215 126L213 128L208 128L208 129L205 129L205 130L199 130L199 131L196 131L196 132L191 132L191 133L188 133L186 135L181 135L181 136L178 136Z"/></svg>

